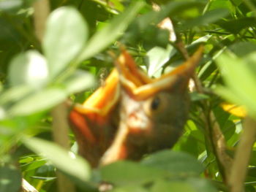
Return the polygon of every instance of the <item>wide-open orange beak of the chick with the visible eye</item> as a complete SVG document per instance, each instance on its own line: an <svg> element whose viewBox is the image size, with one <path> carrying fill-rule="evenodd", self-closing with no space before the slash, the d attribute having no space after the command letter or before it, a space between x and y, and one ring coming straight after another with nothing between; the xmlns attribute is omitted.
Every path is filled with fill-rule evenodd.
<svg viewBox="0 0 256 192"><path fill-rule="evenodd" d="M116 61L116 68L118 69L122 87L135 99L141 100L153 96L159 91L170 89L176 82L181 80L183 80L183 85L179 84L180 88L187 88L187 82L195 72L202 53L203 46L199 47L184 64L157 79L151 79L140 71L126 50L122 50L122 54Z"/></svg>

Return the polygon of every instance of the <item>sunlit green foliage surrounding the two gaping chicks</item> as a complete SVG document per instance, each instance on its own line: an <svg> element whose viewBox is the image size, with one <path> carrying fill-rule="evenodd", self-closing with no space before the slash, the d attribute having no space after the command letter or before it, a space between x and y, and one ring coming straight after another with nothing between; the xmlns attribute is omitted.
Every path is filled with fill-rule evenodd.
<svg viewBox="0 0 256 192"><path fill-rule="evenodd" d="M156 0L159 12L146 0L50 1L42 38L34 15L47 10L36 3L0 1L0 191L19 191L21 178L37 191L56 191L56 169L77 191L98 191L102 181L112 183L112 191L232 191L238 178L232 170L243 165L233 159L249 158L236 150L242 129L247 133L245 116L252 143L242 151L252 155L242 166L248 172L241 183L245 191L256 191L255 1ZM176 42L157 27L166 17ZM69 153L53 142L54 109L68 98L82 102L97 88L113 68L108 51L118 53L118 42L154 77L203 44L199 88L190 93L189 120L173 150L92 170L83 158L72 158L72 132ZM246 115L232 104L242 105Z"/></svg>

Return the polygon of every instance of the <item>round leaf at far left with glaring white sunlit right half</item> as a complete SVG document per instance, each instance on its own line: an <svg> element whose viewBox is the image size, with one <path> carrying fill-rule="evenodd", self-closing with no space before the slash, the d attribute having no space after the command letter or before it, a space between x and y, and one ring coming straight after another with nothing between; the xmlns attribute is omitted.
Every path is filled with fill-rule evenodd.
<svg viewBox="0 0 256 192"><path fill-rule="evenodd" d="M48 81L48 65L40 53L29 50L12 59L8 74L13 86L27 84L40 88Z"/></svg>

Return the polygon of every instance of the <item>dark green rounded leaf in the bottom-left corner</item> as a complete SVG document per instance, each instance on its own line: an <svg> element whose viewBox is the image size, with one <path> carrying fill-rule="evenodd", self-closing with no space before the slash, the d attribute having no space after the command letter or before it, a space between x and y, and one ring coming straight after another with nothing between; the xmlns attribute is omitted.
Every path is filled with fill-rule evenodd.
<svg viewBox="0 0 256 192"><path fill-rule="evenodd" d="M12 167L0 167L0 191L17 192L21 185L20 172Z"/></svg>

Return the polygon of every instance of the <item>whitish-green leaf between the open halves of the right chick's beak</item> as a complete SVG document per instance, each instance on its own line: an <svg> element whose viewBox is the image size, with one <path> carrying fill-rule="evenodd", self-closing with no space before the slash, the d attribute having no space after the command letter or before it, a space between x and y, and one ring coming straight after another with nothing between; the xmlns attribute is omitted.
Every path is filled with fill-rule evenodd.
<svg viewBox="0 0 256 192"><path fill-rule="evenodd" d="M148 56L148 75L153 76L159 69L169 61L170 57L176 53L173 47L167 45L167 48L153 47L146 54Z"/></svg>

